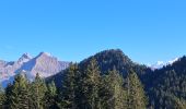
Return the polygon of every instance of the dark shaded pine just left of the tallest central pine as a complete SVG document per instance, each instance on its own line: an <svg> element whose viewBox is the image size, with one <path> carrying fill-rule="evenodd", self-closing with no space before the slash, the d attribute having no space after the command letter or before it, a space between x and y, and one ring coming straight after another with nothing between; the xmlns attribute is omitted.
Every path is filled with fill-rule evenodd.
<svg viewBox="0 0 186 109"><path fill-rule="evenodd" d="M75 109L75 92L78 87L78 64L70 64L69 69L65 73L65 80L62 82L62 102L61 107Z"/></svg>

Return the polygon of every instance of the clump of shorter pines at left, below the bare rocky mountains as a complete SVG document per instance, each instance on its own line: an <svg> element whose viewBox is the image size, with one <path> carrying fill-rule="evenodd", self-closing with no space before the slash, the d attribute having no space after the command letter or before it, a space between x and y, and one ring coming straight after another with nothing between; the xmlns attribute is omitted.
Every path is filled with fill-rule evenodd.
<svg viewBox="0 0 186 109"><path fill-rule="evenodd" d="M55 83L46 86L38 74L33 83L25 75L16 75L13 84L5 88L4 98L2 109L59 109Z"/></svg>

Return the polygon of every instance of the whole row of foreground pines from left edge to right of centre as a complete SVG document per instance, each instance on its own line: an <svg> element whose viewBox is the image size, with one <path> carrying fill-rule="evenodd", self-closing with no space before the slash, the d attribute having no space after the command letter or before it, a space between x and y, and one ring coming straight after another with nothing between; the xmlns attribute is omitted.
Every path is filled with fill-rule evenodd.
<svg viewBox="0 0 186 109"><path fill-rule="evenodd" d="M46 83L39 74L34 82L19 74L5 89L0 88L0 109L146 109L148 98L137 73L123 77L114 68L102 73L92 59L80 69L77 63L63 72L61 87Z"/></svg>

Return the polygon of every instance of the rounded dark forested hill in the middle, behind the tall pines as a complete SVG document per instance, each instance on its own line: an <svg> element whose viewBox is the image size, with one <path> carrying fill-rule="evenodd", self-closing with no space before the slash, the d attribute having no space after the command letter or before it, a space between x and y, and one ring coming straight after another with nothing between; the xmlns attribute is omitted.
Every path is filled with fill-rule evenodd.
<svg viewBox="0 0 186 109"><path fill-rule="evenodd" d="M113 68L115 68L117 71L119 71L120 75L125 77L127 72L132 69L135 72L137 72L142 82L146 82L148 78L143 76L146 76L146 73L152 72L150 68L132 62L120 49L104 50L91 56L78 64L79 69L83 70L86 68L92 59L97 61L97 65L102 74L106 74L108 70L113 70ZM47 80L53 80L57 85L60 85L61 81L59 80L63 76L63 72L65 71L61 71L60 73L48 77Z"/></svg>

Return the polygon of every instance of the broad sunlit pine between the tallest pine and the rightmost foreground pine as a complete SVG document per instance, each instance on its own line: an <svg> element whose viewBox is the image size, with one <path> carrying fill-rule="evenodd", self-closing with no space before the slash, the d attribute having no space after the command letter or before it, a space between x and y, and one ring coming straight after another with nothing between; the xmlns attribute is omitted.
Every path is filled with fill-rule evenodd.
<svg viewBox="0 0 186 109"><path fill-rule="evenodd" d="M125 109L126 92L123 87L124 78L114 68L103 77L101 98L103 109Z"/></svg>

